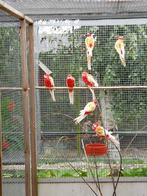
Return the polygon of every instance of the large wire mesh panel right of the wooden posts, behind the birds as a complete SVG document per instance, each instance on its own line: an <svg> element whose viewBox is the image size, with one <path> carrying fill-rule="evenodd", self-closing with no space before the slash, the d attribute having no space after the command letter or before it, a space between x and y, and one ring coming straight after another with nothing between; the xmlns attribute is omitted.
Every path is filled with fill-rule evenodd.
<svg viewBox="0 0 147 196"><path fill-rule="evenodd" d="M73 170L72 166L78 163L78 169L86 168L89 172L81 141L84 146L89 141L103 141L98 137L87 139L95 135L92 124L97 121L112 131L119 141L119 148L108 141L108 156L97 158L100 176L110 175L105 168L110 166L110 162L114 167L117 165L119 152L124 167L122 175L131 175L132 171L125 169L132 167L146 171L146 25L51 20L38 22L36 32L38 167L49 169L44 177L58 178L60 174L53 171L58 164L64 167L68 177L72 174L67 174L67 164ZM91 71L87 67L87 33L94 34L95 40ZM118 36L124 39L125 65L115 48ZM56 102L53 102L50 90L44 87L45 73L40 63L52 72ZM91 91L84 88L83 71L91 73L98 81L99 88L95 89L98 104L95 111L77 125L74 119L93 99ZM68 89L64 88L68 74L75 77L76 87L81 87L74 89L73 105L69 103ZM136 175L140 174L136 172ZM146 173L142 172L142 175Z"/></svg>

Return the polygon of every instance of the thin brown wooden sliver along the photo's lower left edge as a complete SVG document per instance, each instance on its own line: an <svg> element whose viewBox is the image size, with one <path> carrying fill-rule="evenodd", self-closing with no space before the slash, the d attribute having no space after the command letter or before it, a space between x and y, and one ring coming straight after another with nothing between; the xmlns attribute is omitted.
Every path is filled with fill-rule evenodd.
<svg viewBox="0 0 147 196"><path fill-rule="evenodd" d="M1 92L0 92L0 196L2 196L2 116L1 116Z"/></svg>

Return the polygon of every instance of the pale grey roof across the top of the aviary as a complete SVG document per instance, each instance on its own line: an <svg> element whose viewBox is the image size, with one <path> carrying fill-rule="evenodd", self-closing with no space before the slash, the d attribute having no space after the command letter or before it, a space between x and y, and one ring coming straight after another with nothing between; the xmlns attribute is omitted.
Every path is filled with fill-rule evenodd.
<svg viewBox="0 0 147 196"><path fill-rule="evenodd" d="M147 0L4 0L34 18L147 17Z"/></svg>

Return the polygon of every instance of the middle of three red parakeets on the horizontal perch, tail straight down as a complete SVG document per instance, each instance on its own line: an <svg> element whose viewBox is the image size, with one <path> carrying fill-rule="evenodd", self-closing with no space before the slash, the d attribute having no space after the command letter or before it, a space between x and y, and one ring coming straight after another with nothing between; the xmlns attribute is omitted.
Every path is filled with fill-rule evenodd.
<svg viewBox="0 0 147 196"><path fill-rule="evenodd" d="M69 101L70 104L74 103L74 92L73 88L75 86L75 78L69 74L66 78L66 86L68 87L68 93L69 93Z"/></svg>

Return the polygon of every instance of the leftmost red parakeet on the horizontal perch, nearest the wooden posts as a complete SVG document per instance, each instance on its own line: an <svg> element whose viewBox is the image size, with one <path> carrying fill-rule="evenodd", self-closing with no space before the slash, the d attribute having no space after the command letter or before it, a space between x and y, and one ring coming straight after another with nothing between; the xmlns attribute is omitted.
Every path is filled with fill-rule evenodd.
<svg viewBox="0 0 147 196"><path fill-rule="evenodd" d="M52 100L55 102L55 101L56 101L55 93L54 93L55 84L54 84L54 80L53 80L53 78L52 78L51 75L49 75L49 74L44 74L44 85L45 85L46 88L50 91Z"/></svg>

